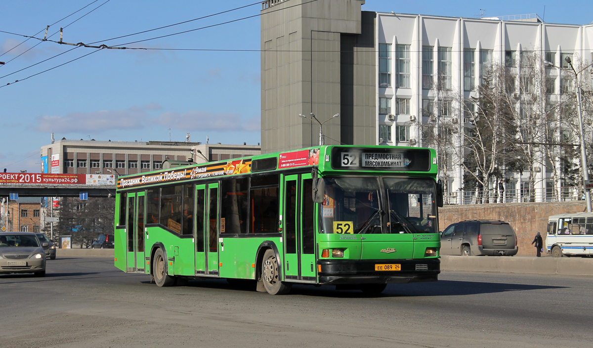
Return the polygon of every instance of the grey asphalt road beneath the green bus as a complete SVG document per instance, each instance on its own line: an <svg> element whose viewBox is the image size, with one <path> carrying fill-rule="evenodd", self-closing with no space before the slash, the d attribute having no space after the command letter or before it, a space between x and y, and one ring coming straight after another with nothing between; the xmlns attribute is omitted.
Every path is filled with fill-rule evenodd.
<svg viewBox="0 0 593 348"><path fill-rule="evenodd" d="M225 280L158 288L111 258L0 276L0 347L586 347L593 277L442 273L380 296Z"/></svg>

